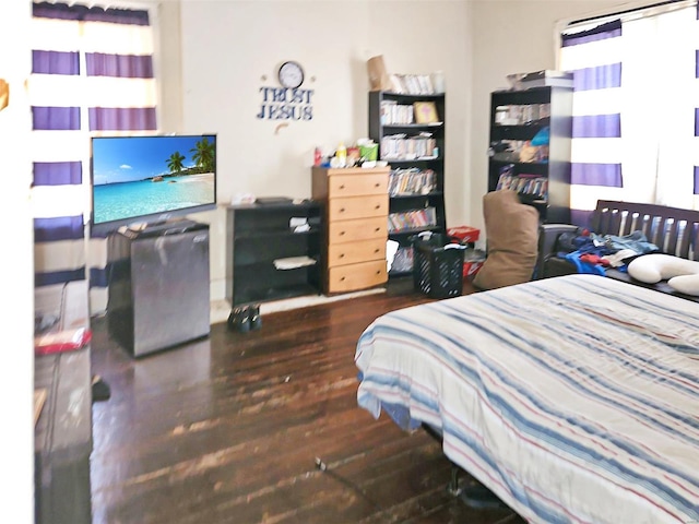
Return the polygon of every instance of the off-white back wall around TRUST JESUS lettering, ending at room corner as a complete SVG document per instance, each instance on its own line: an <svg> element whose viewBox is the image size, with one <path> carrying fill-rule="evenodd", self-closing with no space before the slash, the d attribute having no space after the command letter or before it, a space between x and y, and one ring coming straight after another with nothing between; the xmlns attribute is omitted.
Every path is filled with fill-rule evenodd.
<svg viewBox="0 0 699 524"><path fill-rule="evenodd" d="M442 70L448 90L447 214L449 223L463 223L470 202L469 19L462 1L183 0L182 123L174 130L218 134L221 204L239 192L309 198L313 148L330 152L339 142L350 145L368 133L368 58L383 55L394 73ZM175 57L169 59L165 69L177 67ZM297 60L305 69L301 87L313 91L310 121L257 118L259 90L279 87L276 71L285 60ZM225 210L196 218L211 223L212 299L220 299Z"/></svg>

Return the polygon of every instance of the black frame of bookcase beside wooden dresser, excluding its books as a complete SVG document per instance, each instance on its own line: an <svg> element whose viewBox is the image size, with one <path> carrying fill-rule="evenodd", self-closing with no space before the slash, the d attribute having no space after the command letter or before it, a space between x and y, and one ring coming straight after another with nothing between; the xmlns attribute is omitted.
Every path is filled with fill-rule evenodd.
<svg viewBox="0 0 699 524"><path fill-rule="evenodd" d="M415 103L430 102L437 109L437 116L439 122L437 123L395 123L387 120L386 116L382 118L382 104L396 104L403 106L412 106ZM383 114L386 115L386 114ZM412 243L410 238L422 231L446 233L447 229L447 216L445 212L445 121L446 121L446 95L429 94L429 95L414 95L391 93L386 91L372 91L369 92L369 138L379 144L379 158L387 160L391 166L390 177L398 175L399 170L416 169L428 170L431 169L435 174L434 184L428 192L414 192L414 193L391 193L391 182L389 182L389 215L396 213L410 213L413 211L429 211L434 210L434 222L429 225L423 225L418 227L404 227L399 230L391 230L391 221L389 219L389 239L399 242L399 254L396 261L403 258L404 260L411 260L410 252L412 250ZM401 158L390 156L386 144L383 143L387 136L405 134L406 139L419 136L420 133L430 133L434 139L434 145L437 147L436 155L425 155L415 158ZM407 251L407 252L403 252ZM407 255L407 259L404 257ZM412 272L410 264L399 266L398 271L394 266L389 272L389 277L405 276Z"/></svg>

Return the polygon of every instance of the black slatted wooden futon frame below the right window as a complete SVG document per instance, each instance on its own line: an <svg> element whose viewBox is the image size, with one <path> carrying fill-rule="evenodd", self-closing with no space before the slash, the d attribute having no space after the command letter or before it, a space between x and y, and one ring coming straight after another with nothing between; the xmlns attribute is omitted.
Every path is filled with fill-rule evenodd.
<svg viewBox="0 0 699 524"><path fill-rule="evenodd" d="M570 224L542 224L538 236L538 255L535 279L576 273L568 261L556 257L556 243L562 233L576 231ZM640 230L649 242L657 246L663 253L699 260L699 211L682 210L655 204L600 200L590 217L589 229L599 235L626 236ZM662 293L699 301L699 297L674 290L666 282L645 284L614 269L606 276L630 284L644 286Z"/></svg>

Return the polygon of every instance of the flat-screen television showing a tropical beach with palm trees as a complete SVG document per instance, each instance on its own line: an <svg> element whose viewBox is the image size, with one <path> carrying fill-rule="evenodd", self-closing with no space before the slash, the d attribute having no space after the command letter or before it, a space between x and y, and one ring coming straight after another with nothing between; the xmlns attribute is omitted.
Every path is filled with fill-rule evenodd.
<svg viewBox="0 0 699 524"><path fill-rule="evenodd" d="M93 136L93 231L216 206L216 135Z"/></svg>

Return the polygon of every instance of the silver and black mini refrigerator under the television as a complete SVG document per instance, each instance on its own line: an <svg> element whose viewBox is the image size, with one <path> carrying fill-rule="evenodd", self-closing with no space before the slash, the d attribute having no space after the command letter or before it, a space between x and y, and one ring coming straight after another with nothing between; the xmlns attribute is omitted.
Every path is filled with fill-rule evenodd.
<svg viewBox="0 0 699 524"><path fill-rule="evenodd" d="M210 334L209 225L122 227L108 239L110 336L134 357Z"/></svg>

